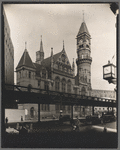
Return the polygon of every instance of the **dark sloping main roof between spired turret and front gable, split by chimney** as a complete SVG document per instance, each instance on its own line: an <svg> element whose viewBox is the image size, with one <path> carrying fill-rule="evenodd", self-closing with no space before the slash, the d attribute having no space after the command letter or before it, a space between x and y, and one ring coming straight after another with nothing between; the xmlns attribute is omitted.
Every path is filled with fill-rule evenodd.
<svg viewBox="0 0 120 150"><path fill-rule="evenodd" d="M56 62L57 59L59 58L59 56L60 56L61 54L62 54L62 51L59 52L59 53L57 53L57 54L55 54L55 55L53 55L53 61ZM49 67L50 67L50 62L51 62L51 56L48 57L48 58L46 58L46 59L44 59L44 60L41 62L41 64L42 64L43 66L45 66L46 68L49 68Z"/></svg>

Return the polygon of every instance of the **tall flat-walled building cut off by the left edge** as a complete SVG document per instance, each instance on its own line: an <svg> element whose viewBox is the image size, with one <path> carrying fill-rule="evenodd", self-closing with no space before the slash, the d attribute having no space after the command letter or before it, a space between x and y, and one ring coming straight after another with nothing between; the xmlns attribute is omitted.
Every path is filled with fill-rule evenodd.
<svg viewBox="0 0 120 150"><path fill-rule="evenodd" d="M3 8L4 19L4 71L5 83L14 84L14 47L10 35L10 27Z"/></svg>

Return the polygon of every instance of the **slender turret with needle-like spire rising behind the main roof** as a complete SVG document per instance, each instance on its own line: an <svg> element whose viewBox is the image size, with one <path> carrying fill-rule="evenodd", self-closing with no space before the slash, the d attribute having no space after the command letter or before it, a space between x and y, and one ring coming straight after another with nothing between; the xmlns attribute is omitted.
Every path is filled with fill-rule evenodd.
<svg viewBox="0 0 120 150"><path fill-rule="evenodd" d="M40 50L36 52L36 63L41 64L43 60L44 60L44 51L43 51L43 42L42 42L42 35L41 35Z"/></svg>

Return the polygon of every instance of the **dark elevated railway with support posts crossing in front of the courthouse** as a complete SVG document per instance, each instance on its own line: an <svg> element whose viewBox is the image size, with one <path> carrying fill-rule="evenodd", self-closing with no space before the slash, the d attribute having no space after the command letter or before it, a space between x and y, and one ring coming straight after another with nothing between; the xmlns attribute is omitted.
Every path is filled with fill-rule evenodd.
<svg viewBox="0 0 120 150"><path fill-rule="evenodd" d="M5 85L3 92L6 104L23 104L34 103L38 104L38 121L40 121L40 104L60 104L71 106L71 116L73 117L73 105L92 106L94 114L94 107L117 107L115 99L91 97L85 95L77 95L71 93L56 92L38 88L31 88L19 85Z"/></svg>

